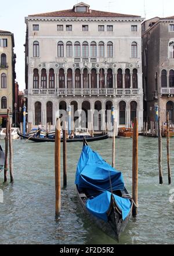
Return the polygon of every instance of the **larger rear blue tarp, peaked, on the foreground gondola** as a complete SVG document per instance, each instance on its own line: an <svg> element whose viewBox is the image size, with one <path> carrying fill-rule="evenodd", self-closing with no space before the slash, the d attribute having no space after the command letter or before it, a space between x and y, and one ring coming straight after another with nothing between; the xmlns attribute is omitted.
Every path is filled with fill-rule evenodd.
<svg viewBox="0 0 174 256"><path fill-rule="evenodd" d="M75 184L78 189L95 189L99 192L124 189L121 172L116 171L103 158L84 146L77 165Z"/></svg>

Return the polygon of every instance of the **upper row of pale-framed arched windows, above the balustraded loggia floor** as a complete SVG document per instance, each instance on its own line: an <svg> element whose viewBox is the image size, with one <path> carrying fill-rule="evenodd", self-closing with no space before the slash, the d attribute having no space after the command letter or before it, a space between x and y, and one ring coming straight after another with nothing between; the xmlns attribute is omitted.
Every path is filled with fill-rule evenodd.
<svg viewBox="0 0 174 256"><path fill-rule="evenodd" d="M95 41L88 44L88 42L82 43L82 52L81 44L77 41L74 43L74 54L73 54L73 44L68 41L64 44L62 41L59 41L57 44L57 57L64 57L64 47L66 47L66 57L104 57L104 42L99 42L97 45ZM39 57L39 42L33 42L33 57ZM107 42L107 57L113 57L113 42ZM137 57L137 43L132 42L131 44L131 57Z"/></svg>

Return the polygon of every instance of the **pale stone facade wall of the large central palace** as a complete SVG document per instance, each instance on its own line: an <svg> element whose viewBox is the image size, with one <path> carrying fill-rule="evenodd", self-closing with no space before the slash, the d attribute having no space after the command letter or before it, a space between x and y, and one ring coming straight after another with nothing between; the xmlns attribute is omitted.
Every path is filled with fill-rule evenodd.
<svg viewBox="0 0 174 256"><path fill-rule="evenodd" d="M39 101L42 103L42 124L46 124L46 102L49 100L53 103L53 123L56 121L56 112L59 110L59 102L61 100L66 101L67 106L73 100L78 103L78 109L81 109L82 102L89 100L90 107L94 108L94 104L97 100L102 102L102 108L105 109L106 101L111 100L116 110L117 124L119 125L119 102L124 100L126 102L126 127L130 125L130 102L137 102L137 117L139 118L139 128L143 126L143 90L142 90L142 40L141 40L141 21L142 19L84 19L81 21L74 19L60 19L56 18L52 21L46 19L37 19L28 17L26 18L28 38L26 39L26 48L28 49L27 65L28 65L28 88L26 96L28 98L28 122L34 124L34 105L35 102ZM32 25L39 24L39 31L32 31ZM63 24L64 31L57 31L57 24ZM73 31L65 31L66 24L72 24ZM89 31L82 31L82 24L88 25ZM98 25L104 25L105 30L107 25L113 25L113 32L100 32L98 31ZM137 32L131 31L131 25L137 25ZM38 41L40 45L40 56L33 57L32 55L32 45L34 41ZM57 57L57 42L64 42L64 56L63 58ZM82 42L87 41L89 45L89 58L90 58L90 42L95 41L98 45L100 41L104 42L105 45L105 56L96 57L96 63L87 63L88 72L91 72L92 68L96 68L97 73L99 73L100 68L104 68L105 73L107 73L108 68L113 70L114 77L114 88L117 88L116 78L118 68L122 68L123 75L125 69L129 68L131 74L133 68L137 68L137 78L138 78L138 94L131 95L61 95L57 91L53 95L34 95L33 92L33 70L38 68L39 78L41 77L41 69L46 68L47 77L49 74L49 69L53 68L56 74L56 85L55 89L59 89L59 84L57 82L59 69L63 68L66 74L67 69L71 68L73 74L75 68L81 70L81 74L84 70L84 62L74 63L74 47L73 47L73 57L66 57L66 42L78 41L81 44L81 55L82 55ZM113 42L113 57L107 57L107 42ZM131 57L131 44L132 42L137 42L137 57ZM98 48L97 48L98 50ZM81 56L82 59L82 56ZM83 93L82 93L83 94Z"/></svg>

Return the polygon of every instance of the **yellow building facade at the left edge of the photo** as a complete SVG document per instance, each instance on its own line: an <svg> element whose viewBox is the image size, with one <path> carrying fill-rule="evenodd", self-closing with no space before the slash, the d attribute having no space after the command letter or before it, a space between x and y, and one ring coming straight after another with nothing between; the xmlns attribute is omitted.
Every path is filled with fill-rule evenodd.
<svg viewBox="0 0 174 256"><path fill-rule="evenodd" d="M2 127L6 125L7 109L10 109L11 121L13 117L14 80L16 78L14 70L16 55L13 48L13 34L0 30L0 121Z"/></svg>

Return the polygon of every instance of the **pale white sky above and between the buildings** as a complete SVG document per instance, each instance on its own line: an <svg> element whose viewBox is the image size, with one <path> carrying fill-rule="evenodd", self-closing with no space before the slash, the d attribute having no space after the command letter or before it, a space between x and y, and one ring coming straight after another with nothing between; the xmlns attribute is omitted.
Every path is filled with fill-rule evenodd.
<svg viewBox="0 0 174 256"><path fill-rule="evenodd" d="M71 9L77 0L6 0L0 5L0 30L7 30L14 34L16 59L16 81L19 88L25 88L24 44L26 24L24 17L42 12ZM84 0L90 9L104 10L132 15L151 17L174 16L173 0ZM146 13L146 14L145 14Z"/></svg>

